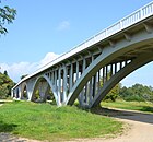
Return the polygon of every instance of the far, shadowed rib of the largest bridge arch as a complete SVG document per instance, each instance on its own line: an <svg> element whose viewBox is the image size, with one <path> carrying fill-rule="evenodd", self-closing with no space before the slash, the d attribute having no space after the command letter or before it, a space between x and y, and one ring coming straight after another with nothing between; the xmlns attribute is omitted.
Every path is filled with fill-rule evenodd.
<svg viewBox="0 0 153 142"><path fill-rule="evenodd" d="M114 76L111 76L111 79L107 81L105 85L99 90L98 94L96 95L90 107L97 106L101 100L107 95L107 93L128 74L151 62L153 60L152 54L141 55L136 60L126 66L123 69L121 69L119 72L117 72Z"/></svg>

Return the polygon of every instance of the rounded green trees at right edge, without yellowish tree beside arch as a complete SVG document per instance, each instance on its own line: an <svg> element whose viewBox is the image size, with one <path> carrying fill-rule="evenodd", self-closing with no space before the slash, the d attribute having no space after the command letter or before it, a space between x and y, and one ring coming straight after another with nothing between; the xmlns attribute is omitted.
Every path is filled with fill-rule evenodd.
<svg viewBox="0 0 153 142"><path fill-rule="evenodd" d="M125 100L153 102L153 87L136 84L131 87L120 88L119 96Z"/></svg>

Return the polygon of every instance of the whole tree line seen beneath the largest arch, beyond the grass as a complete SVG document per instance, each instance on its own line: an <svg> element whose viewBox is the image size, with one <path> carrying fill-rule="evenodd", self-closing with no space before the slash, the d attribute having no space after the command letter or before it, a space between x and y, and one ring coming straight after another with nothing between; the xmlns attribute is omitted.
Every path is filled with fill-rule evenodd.
<svg viewBox="0 0 153 142"><path fill-rule="evenodd" d="M104 98L106 102L115 102L116 99L153 103L153 87L138 83L127 87L119 83Z"/></svg>

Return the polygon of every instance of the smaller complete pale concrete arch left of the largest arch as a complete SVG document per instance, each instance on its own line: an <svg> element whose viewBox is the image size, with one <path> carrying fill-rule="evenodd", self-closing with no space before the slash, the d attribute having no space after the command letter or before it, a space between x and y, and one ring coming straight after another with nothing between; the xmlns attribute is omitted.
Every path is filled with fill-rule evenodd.
<svg viewBox="0 0 153 142"><path fill-rule="evenodd" d="M57 97L57 94L55 93L54 85L52 85L51 81L49 80L49 78L46 76L45 74L44 74L44 75L40 75L40 76L38 76L38 78L36 79L35 83L34 83L33 92L32 92L32 100L33 100L33 102L35 100L35 99L34 99L34 97L35 97L35 92L36 92L37 86L38 86L38 84L39 84L39 82L40 82L42 80L45 80L45 81L47 82L47 84L50 86L50 88L51 88L51 91L52 91L52 94L54 94L54 97L55 97L55 100L56 100L56 104L58 104L58 100L57 100L58 97ZM46 91L47 91L47 90L48 90L48 87L46 87Z"/></svg>

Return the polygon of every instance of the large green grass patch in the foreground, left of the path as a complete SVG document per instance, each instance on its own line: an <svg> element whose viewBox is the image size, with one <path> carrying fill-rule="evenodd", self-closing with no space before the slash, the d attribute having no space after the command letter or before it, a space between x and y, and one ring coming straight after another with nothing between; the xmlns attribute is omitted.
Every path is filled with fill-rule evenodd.
<svg viewBox="0 0 153 142"><path fill-rule="evenodd" d="M62 141L117 134L122 123L76 107L60 107L27 102L5 103L0 107L0 132L20 137Z"/></svg>

